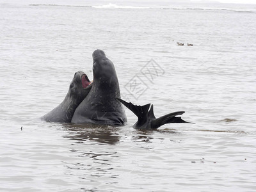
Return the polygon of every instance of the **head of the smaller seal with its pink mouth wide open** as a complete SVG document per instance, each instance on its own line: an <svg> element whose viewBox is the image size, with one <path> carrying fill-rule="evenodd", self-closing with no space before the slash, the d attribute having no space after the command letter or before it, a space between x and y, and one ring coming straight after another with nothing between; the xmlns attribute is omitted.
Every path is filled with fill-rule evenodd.
<svg viewBox="0 0 256 192"><path fill-rule="evenodd" d="M92 88L91 81L82 71L74 74L74 78L70 83L68 93L70 97L75 97L77 101L81 102Z"/></svg>

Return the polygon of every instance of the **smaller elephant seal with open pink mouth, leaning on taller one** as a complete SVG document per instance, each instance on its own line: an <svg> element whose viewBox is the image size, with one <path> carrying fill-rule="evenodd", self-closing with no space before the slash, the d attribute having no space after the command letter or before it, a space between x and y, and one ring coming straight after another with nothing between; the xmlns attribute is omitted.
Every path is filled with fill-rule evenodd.
<svg viewBox="0 0 256 192"><path fill-rule="evenodd" d="M91 88L91 81L86 74L82 71L76 72L63 102L42 116L42 120L47 122L70 123L77 106L88 95Z"/></svg>

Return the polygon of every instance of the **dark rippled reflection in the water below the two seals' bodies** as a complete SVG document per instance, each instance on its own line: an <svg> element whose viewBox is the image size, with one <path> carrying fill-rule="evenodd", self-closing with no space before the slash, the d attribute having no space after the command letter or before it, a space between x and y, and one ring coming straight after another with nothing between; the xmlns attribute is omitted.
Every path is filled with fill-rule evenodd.
<svg viewBox="0 0 256 192"><path fill-rule="evenodd" d="M76 161L63 162L68 170L76 170L79 179L86 184L97 184L99 178L109 178L113 184L119 175L115 173L114 164L118 155L116 147L111 147L120 142L118 127L109 127L103 125L73 125L63 124L62 129L67 132L63 138L75 141L71 143L72 157ZM104 145L104 147L102 146ZM106 147L108 146L109 147ZM107 183L106 183L107 184ZM97 188L95 188L97 189ZM97 191L93 188L82 190Z"/></svg>

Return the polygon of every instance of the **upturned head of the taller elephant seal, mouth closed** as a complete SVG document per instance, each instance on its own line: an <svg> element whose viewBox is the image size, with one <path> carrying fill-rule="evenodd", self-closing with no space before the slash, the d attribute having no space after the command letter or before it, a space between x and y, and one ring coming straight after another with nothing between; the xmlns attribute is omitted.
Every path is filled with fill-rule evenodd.
<svg viewBox="0 0 256 192"><path fill-rule="evenodd" d="M92 54L93 57L93 83L115 83L118 82L115 67L104 51L97 49Z"/></svg>

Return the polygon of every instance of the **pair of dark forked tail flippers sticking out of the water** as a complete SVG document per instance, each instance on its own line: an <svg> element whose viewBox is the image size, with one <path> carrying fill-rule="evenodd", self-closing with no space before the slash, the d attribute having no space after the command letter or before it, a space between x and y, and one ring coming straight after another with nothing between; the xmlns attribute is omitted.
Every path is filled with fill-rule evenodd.
<svg viewBox="0 0 256 192"><path fill-rule="evenodd" d="M153 111L152 104L146 104L145 106L137 106L131 102L126 102L122 99L118 99L125 107L130 109L136 116L138 116L138 121L132 127L134 129L157 129L164 124L171 123L189 123L181 119L181 117L176 117L176 115L182 115L185 111L177 111L174 113L169 113L167 115L156 118Z"/></svg>

